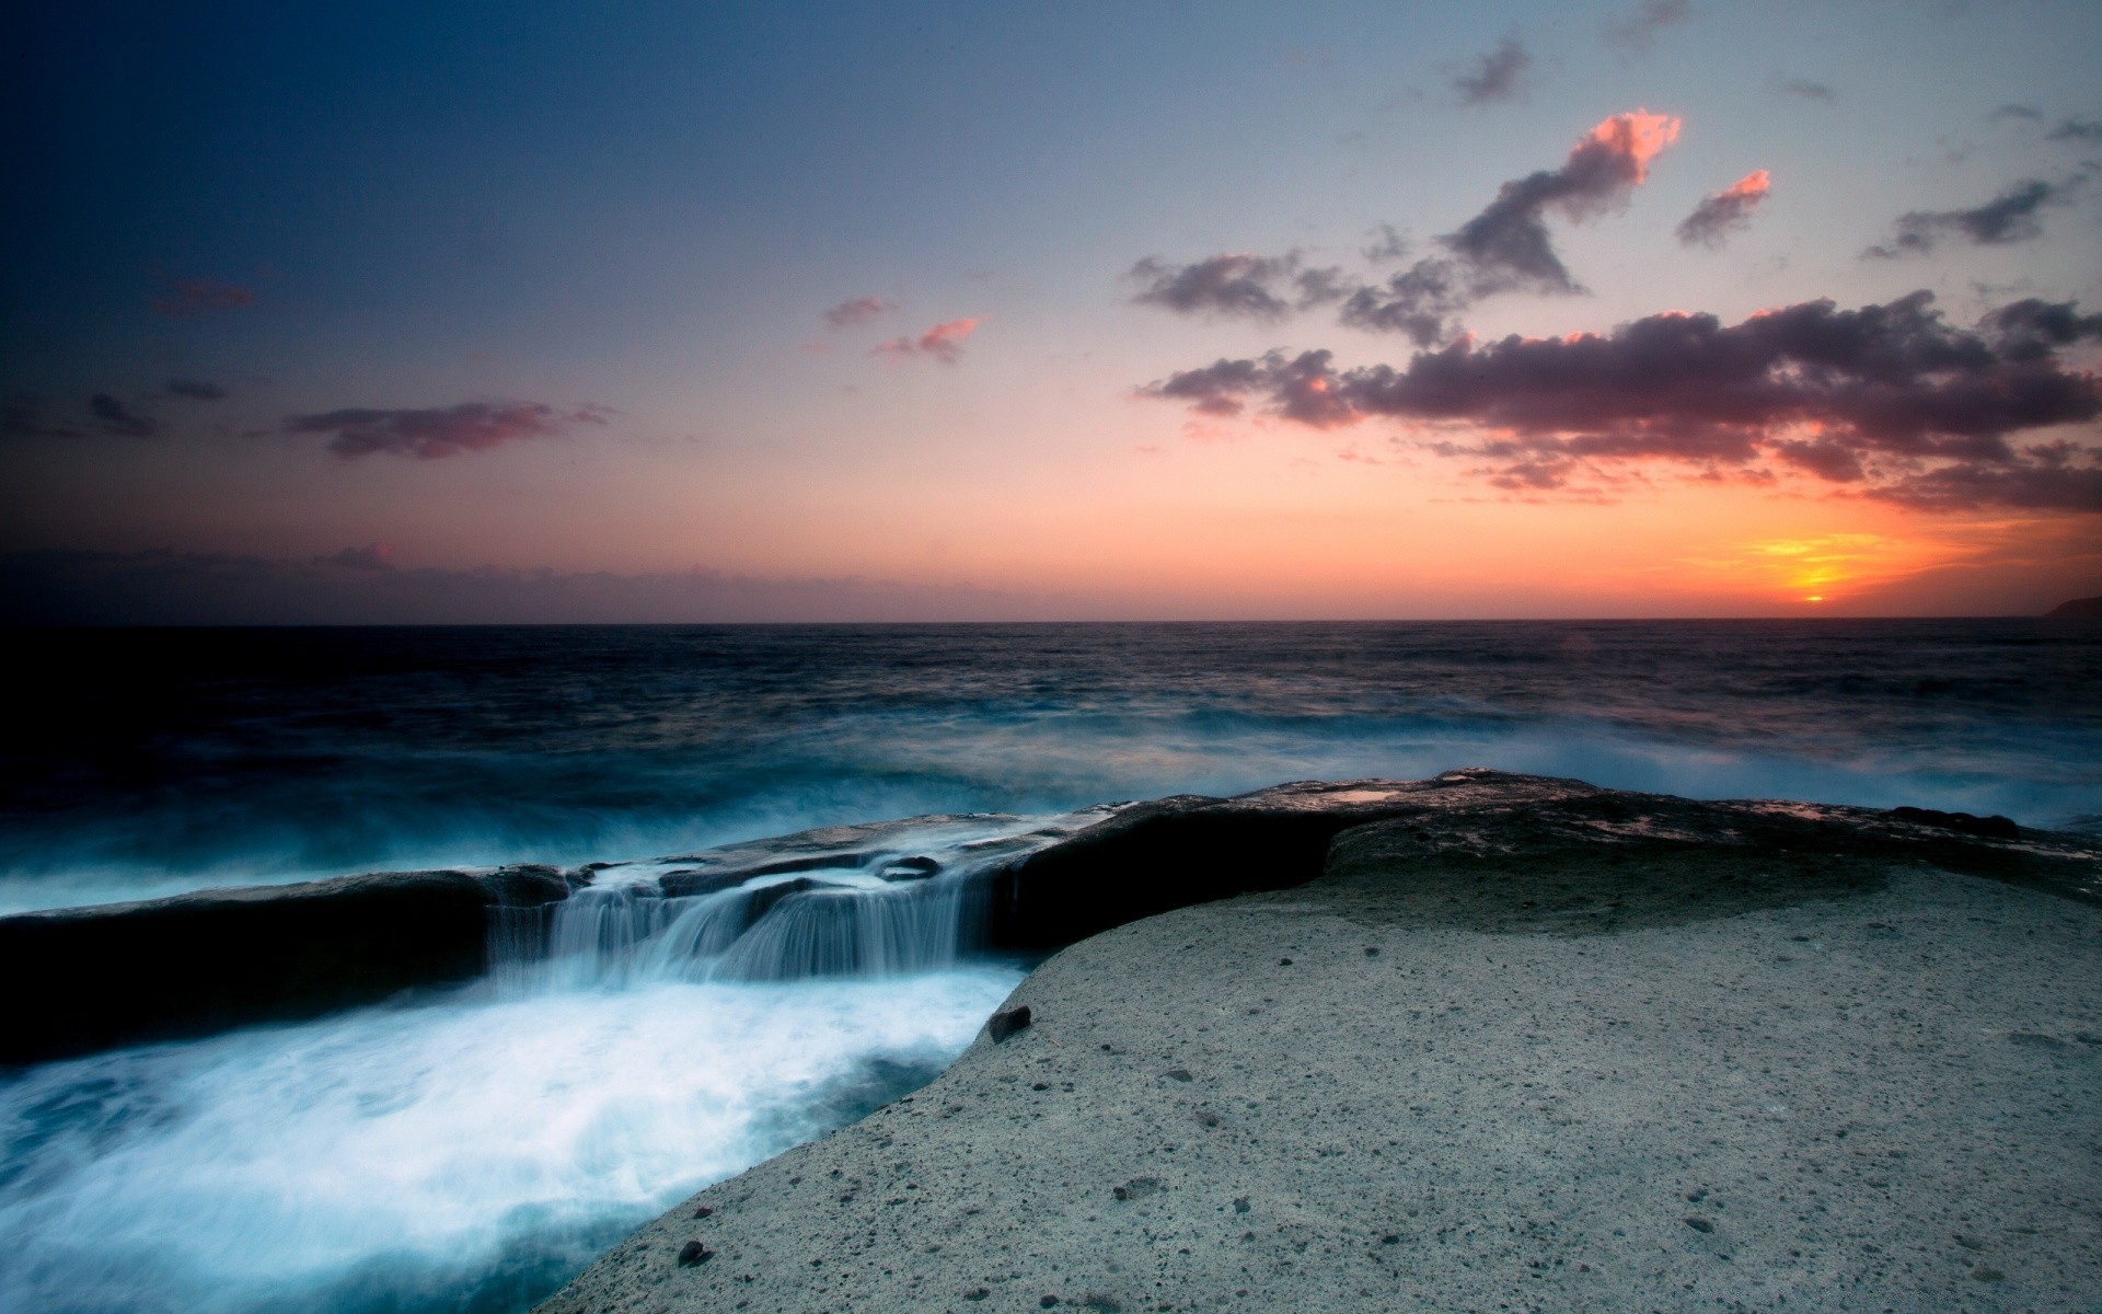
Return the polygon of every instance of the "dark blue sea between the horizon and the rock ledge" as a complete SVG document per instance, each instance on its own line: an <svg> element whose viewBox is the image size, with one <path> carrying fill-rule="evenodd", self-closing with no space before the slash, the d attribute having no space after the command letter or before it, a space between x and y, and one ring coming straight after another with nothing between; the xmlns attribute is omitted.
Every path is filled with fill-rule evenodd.
<svg viewBox="0 0 2102 1314"><path fill-rule="evenodd" d="M0 910L1457 765L2102 812L2043 620L46 631Z"/></svg>

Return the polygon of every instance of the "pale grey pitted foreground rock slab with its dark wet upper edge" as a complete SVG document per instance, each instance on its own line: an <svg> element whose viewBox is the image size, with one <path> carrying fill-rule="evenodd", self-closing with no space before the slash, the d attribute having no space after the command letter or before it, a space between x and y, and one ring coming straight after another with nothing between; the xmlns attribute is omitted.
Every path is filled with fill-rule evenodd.
<svg viewBox="0 0 2102 1314"><path fill-rule="evenodd" d="M1242 891L1072 944L1003 1005L1028 1030L540 1308L2102 1299L2091 841L1478 772L1225 812L1322 795L1371 816L1318 879L1219 870ZM681 1268L696 1207L717 1259Z"/></svg>

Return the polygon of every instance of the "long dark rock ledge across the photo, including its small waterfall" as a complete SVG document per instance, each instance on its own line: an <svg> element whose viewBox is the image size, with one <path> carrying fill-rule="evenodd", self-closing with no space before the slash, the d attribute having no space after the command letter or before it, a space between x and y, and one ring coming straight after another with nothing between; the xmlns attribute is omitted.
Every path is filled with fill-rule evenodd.
<svg viewBox="0 0 2102 1314"><path fill-rule="evenodd" d="M1343 830L1408 820L1427 851L1553 845L1820 849L1932 862L2094 898L2079 837L2005 818L1694 803L1579 780L1446 772L1101 805L1057 818L830 826L574 872L395 872L0 919L0 990L46 1007L0 1064L317 1018L492 976L507 990L929 971L1045 952L1179 908L1312 881ZM124 973L109 971L122 963ZM141 992L137 980L156 982Z"/></svg>

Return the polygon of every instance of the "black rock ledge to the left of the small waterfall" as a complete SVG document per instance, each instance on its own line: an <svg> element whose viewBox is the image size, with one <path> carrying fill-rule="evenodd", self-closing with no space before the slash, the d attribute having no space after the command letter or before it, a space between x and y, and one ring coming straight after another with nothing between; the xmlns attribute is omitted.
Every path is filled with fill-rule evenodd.
<svg viewBox="0 0 2102 1314"><path fill-rule="evenodd" d="M544 931L551 866L206 889L0 917L0 1064L317 1018L488 971L492 936ZM147 982L141 988L139 982Z"/></svg>

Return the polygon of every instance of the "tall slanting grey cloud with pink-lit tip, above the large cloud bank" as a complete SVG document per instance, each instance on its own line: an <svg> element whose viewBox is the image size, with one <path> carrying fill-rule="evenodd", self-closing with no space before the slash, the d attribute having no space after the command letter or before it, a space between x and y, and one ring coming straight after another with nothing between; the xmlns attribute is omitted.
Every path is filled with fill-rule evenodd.
<svg viewBox="0 0 2102 1314"><path fill-rule="evenodd" d="M1480 214L1440 238L1434 254L1360 288L1343 303L1343 324L1408 334L1429 345L1457 332L1455 315L1497 292L1583 292L1547 233L1547 217L1570 223L1627 204L1654 160L1679 135L1669 114L1614 114L1591 128L1560 168L1505 183Z"/></svg>

